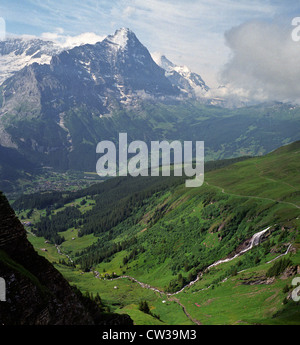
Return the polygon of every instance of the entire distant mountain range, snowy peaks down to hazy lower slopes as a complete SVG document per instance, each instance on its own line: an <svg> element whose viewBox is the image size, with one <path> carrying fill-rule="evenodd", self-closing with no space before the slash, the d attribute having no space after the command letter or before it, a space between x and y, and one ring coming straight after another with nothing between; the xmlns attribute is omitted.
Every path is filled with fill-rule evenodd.
<svg viewBox="0 0 300 345"><path fill-rule="evenodd" d="M16 166L95 171L96 144L117 144L120 132L146 142L205 140L207 159L263 154L299 139L299 107L220 107L200 75L151 56L129 29L72 49L8 40L0 62L2 181Z"/></svg>

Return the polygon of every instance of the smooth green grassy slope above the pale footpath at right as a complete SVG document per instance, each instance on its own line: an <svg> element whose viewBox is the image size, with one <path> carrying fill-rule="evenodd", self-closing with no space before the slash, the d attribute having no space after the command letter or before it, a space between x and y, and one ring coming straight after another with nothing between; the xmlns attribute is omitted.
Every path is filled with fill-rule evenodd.
<svg viewBox="0 0 300 345"><path fill-rule="evenodd" d="M270 198L300 207L299 142L283 146L264 157L211 173L207 182L221 186L225 192Z"/></svg>

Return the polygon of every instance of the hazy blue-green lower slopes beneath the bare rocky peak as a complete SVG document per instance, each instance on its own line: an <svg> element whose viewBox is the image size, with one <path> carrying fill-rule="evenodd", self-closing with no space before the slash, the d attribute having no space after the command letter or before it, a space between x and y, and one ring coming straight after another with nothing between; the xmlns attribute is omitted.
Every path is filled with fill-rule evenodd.
<svg viewBox="0 0 300 345"><path fill-rule="evenodd" d="M185 102L139 101L115 106L110 114L76 105L63 113L63 128L52 116L7 118L6 131L15 146L0 146L0 189L20 193L44 174L95 171L96 145L128 141L203 140L206 160L260 156L299 140L299 107L269 103L227 109ZM35 143L35 145L33 145Z"/></svg>

